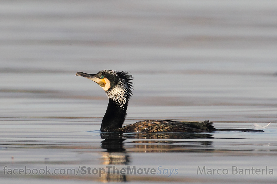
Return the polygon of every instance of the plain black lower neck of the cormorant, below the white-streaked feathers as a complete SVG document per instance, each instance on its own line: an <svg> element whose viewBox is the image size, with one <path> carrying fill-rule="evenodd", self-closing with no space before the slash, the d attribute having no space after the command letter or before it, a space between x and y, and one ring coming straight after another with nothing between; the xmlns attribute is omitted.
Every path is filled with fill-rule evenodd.
<svg viewBox="0 0 277 184"><path fill-rule="evenodd" d="M128 101L119 106L109 98L109 104L103 117L100 131L113 132L115 129L121 128L127 114L127 106Z"/></svg>

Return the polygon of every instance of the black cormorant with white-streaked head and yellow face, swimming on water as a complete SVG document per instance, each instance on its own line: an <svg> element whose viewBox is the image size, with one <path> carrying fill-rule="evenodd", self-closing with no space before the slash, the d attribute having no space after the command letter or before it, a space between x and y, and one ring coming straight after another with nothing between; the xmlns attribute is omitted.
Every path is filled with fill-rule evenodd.
<svg viewBox="0 0 277 184"><path fill-rule="evenodd" d="M109 99L108 107L101 123L101 132L262 132L262 130L255 129L217 129L208 120L203 122L144 120L122 126L127 115L128 102L132 96L133 76L129 72L115 70L101 70L96 74L77 72L76 76L85 77L96 82L103 88Z"/></svg>

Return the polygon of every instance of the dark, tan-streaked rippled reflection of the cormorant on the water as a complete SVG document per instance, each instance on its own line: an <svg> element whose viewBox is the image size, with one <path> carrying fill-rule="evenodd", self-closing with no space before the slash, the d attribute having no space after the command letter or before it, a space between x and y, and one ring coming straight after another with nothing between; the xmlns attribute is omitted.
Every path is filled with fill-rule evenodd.
<svg viewBox="0 0 277 184"><path fill-rule="evenodd" d="M137 151L147 152L147 149L151 149L151 152L171 152L178 151L178 148L198 146L199 144L206 147L212 146L212 141L196 141L186 139L213 139L214 137L208 133L170 133L170 132L158 132L158 133L115 133L115 132L102 132L101 138L104 139L101 143L101 148L106 149L102 152L102 164L112 166L110 171L106 169L105 174L102 175L102 182L126 182L126 174L121 174L119 171L122 168L127 170L130 163L130 156L124 148L124 141L126 139L131 140L134 149ZM187 144L174 144L174 143L187 143ZM211 148L209 148L211 150ZM188 151L188 150L183 150ZM206 151L201 149L201 151Z"/></svg>

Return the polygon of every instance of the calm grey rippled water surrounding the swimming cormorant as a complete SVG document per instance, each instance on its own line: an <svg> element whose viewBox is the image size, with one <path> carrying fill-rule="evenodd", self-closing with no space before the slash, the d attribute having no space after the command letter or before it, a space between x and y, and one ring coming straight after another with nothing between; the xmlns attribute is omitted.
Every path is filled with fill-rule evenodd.
<svg viewBox="0 0 277 184"><path fill-rule="evenodd" d="M0 181L276 183L276 51L276 1L1 0ZM124 134L106 144L98 130L107 97L75 77L103 69L134 76L125 124L271 124L261 133ZM162 166L178 174L8 175L4 166ZM198 166L229 173L201 175ZM232 174L232 166L274 173Z"/></svg>

